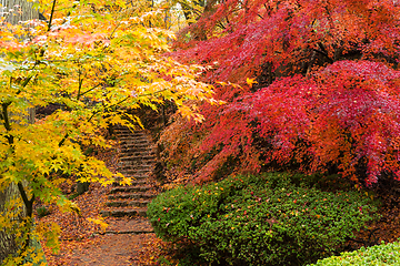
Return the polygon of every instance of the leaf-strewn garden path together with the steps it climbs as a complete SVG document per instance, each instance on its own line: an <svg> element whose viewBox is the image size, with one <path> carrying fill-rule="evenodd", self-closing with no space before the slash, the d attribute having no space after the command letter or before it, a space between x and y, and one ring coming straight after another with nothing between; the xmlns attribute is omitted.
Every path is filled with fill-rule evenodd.
<svg viewBox="0 0 400 266"><path fill-rule="evenodd" d="M156 238L146 218L147 204L157 194L150 181L156 164L153 144L144 131L131 132L127 127L117 127L114 131L119 144L117 161L113 163L118 172L133 180L132 184L123 186L117 182L106 190L93 187L89 193L80 196L81 208L90 205L86 203L100 205L94 207L100 211L108 227L102 231L98 226L97 232L92 233L84 243L77 242L76 245L69 245L68 249L61 250L59 255L51 255L48 259L49 265L151 265L151 262L143 262L143 256L140 254L143 244L151 243ZM116 157L116 154L113 155ZM74 224L71 226L73 227ZM68 225L64 227L68 229Z"/></svg>

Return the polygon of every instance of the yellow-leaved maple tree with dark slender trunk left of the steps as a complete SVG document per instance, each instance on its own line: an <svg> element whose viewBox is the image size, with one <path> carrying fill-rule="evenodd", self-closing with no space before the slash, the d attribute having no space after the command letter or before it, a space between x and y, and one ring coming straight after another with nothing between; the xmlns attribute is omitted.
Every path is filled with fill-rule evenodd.
<svg viewBox="0 0 400 266"><path fill-rule="evenodd" d="M193 101L211 96L211 86L197 81L201 66L162 55L173 38L157 28L162 10L144 12L107 0L43 0L37 8L47 21L2 21L0 32L0 188L14 184L19 190L6 204L0 224L16 234L21 247L10 254L8 265L24 263L37 235L50 245L57 241L57 225L32 227L36 201L79 213L58 184L68 176L102 185L114 181L103 162L81 149L109 146L101 130L140 126L127 111L140 105L156 109L166 100L173 101L183 116L200 120ZM59 109L28 123L29 109L49 104ZM23 213L9 212L18 204Z"/></svg>

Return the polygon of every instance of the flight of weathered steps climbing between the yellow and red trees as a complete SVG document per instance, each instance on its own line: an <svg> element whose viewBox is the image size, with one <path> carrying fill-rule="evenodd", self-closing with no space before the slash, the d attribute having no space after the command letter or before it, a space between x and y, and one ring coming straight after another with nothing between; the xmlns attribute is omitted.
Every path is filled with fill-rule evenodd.
<svg viewBox="0 0 400 266"><path fill-rule="evenodd" d="M118 172L133 181L129 186L113 184L100 214L106 217L146 217L147 205L156 196L149 183L156 165L154 146L144 131L114 130L120 143Z"/></svg>

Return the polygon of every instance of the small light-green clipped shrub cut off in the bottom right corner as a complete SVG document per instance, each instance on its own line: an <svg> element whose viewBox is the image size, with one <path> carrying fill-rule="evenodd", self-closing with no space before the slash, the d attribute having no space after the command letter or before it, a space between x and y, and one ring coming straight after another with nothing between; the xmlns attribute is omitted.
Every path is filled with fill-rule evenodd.
<svg viewBox="0 0 400 266"><path fill-rule="evenodd" d="M400 243L382 243L372 247L361 247L351 253L342 253L340 256L333 256L318 260L313 266L342 266L342 265L400 265Z"/></svg>

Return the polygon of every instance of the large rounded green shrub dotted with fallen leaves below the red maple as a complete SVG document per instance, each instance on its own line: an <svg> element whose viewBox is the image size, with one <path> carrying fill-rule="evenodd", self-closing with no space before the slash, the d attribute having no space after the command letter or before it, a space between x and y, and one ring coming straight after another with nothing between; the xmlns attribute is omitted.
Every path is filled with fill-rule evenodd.
<svg viewBox="0 0 400 266"><path fill-rule="evenodd" d="M357 192L321 192L291 176L236 176L160 194L148 208L158 236L218 265L302 265L340 250L376 216ZM200 259L198 257L198 259Z"/></svg>

